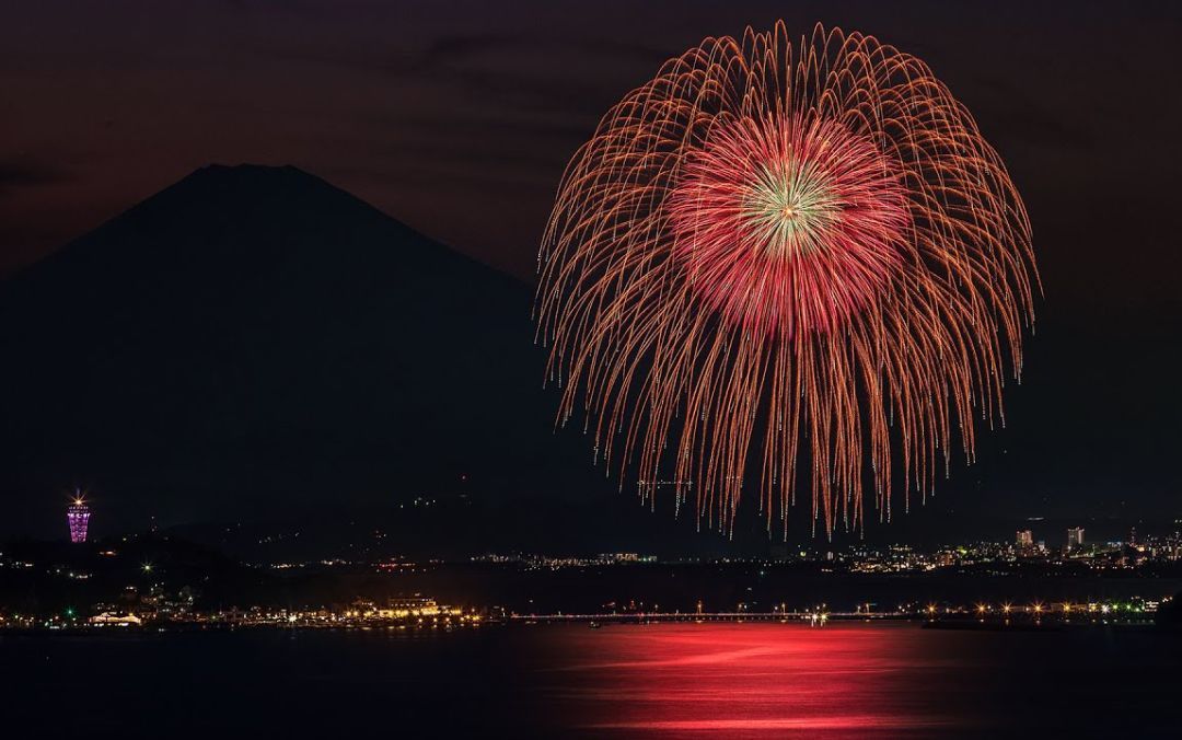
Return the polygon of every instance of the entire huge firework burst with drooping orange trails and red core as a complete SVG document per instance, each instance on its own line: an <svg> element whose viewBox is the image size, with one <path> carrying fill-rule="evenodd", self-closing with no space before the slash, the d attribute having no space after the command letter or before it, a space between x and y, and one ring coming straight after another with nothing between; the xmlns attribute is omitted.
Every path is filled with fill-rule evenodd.
<svg viewBox="0 0 1182 740"><path fill-rule="evenodd" d="M814 527L889 519L1004 422L1038 286L996 151L928 66L782 24L707 39L574 155L539 253L537 318L621 486L673 481L732 531L806 482ZM690 485L693 481L693 485Z"/></svg>

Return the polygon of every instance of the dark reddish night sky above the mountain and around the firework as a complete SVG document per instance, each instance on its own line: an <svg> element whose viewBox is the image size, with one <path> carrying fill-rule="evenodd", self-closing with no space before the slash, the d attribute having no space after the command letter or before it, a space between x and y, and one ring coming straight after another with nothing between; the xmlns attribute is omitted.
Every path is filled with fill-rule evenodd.
<svg viewBox="0 0 1182 740"><path fill-rule="evenodd" d="M1176 2L11 4L0 273L210 162L294 164L533 280L598 117L708 35L784 18L924 59L1026 200L1045 296L992 491L1013 513L1182 513Z"/></svg>

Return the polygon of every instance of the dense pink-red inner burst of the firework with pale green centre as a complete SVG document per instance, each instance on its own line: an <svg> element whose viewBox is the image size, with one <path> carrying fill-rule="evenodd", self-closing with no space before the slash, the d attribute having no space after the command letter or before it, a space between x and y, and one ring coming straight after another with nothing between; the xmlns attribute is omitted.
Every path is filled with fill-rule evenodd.
<svg viewBox="0 0 1182 740"><path fill-rule="evenodd" d="M830 331L873 300L908 223L868 138L799 116L716 129L670 197L675 248L706 301L759 331Z"/></svg>

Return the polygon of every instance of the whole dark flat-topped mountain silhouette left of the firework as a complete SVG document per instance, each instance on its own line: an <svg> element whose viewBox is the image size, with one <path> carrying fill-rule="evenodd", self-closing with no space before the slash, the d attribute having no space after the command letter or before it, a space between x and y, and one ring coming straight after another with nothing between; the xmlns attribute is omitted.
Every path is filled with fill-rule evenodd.
<svg viewBox="0 0 1182 740"><path fill-rule="evenodd" d="M639 508L552 433L531 301L298 169L197 170L0 286L11 528L57 527L76 485L112 528L441 494Z"/></svg>

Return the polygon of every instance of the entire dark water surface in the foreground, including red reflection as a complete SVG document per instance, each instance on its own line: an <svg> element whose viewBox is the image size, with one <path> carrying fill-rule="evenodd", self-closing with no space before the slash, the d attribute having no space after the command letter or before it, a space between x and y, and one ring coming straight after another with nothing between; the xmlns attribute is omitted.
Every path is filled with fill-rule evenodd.
<svg viewBox="0 0 1182 740"><path fill-rule="evenodd" d="M1182 636L914 623L9 635L0 666L5 727L40 736L1177 736Z"/></svg>

